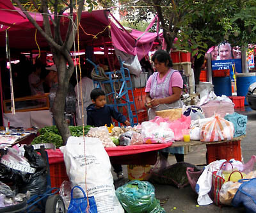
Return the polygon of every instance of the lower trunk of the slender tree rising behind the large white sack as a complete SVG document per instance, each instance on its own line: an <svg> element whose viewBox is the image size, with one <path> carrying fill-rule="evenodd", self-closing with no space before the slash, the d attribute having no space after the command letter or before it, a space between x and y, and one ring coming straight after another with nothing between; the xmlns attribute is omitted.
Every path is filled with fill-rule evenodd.
<svg viewBox="0 0 256 213"><path fill-rule="evenodd" d="M65 145L68 137L71 136L70 130L68 129L68 123L65 120L65 115L63 113L65 112L65 102L68 94L70 77L67 76L67 59L60 52L54 53L53 56L58 70L58 89L52 111L54 120L63 140L63 145Z"/></svg>

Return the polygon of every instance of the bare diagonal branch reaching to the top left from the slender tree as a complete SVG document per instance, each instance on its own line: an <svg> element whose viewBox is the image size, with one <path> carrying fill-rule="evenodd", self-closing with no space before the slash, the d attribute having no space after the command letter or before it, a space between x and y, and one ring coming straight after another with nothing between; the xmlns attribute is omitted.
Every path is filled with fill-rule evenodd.
<svg viewBox="0 0 256 213"><path fill-rule="evenodd" d="M31 17L31 15L29 15L29 13L25 10L22 4L20 4L20 1L19 0L13 0L13 1L17 4L17 6L19 6L20 10L22 10L24 15L26 15L27 19L33 24L33 26L35 26L35 28L39 31L39 33L41 33L41 35L44 36L47 42L49 42L56 49L60 50L61 46L58 45L56 42L54 42L52 36L49 36L47 33L45 33L45 31L36 23L36 21Z"/></svg>

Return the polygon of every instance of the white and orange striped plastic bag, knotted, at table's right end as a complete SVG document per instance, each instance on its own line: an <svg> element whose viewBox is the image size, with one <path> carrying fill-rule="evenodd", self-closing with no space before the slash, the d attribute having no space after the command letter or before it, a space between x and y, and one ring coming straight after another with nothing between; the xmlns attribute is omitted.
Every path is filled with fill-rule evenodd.
<svg viewBox="0 0 256 213"><path fill-rule="evenodd" d="M201 130L201 141L224 141L234 138L234 124L221 118L218 114L214 115L211 122L204 124Z"/></svg>

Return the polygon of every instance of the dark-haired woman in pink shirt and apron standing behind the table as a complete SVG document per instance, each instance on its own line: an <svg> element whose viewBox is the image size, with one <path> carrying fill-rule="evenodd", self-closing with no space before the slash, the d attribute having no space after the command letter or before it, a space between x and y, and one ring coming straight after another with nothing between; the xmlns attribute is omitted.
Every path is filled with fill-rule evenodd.
<svg viewBox="0 0 256 213"><path fill-rule="evenodd" d="M168 52L159 50L152 56L152 61L157 72L148 78L146 85L146 104L148 106L148 119L152 120L156 116L156 111L165 109L182 108L180 100L182 95L183 80L177 70L171 67L172 59ZM164 148L160 152L160 157L168 159L168 154L175 155L177 162L184 161L184 147Z"/></svg>

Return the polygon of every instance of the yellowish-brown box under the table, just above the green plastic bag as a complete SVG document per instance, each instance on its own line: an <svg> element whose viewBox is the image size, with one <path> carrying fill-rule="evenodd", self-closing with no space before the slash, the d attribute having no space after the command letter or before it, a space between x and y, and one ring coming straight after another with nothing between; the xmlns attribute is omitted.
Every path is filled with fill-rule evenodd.
<svg viewBox="0 0 256 213"><path fill-rule="evenodd" d="M150 174L150 165L127 165L127 173L129 180L148 180Z"/></svg>

